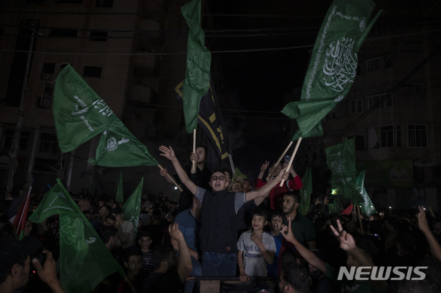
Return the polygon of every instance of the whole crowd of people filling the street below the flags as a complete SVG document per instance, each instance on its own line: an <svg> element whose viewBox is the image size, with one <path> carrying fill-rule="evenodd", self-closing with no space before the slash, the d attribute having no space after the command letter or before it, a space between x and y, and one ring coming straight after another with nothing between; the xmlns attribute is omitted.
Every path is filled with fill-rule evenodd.
<svg viewBox="0 0 441 293"><path fill-rule="evenodd" d="M208 171L204 146L190 155L195 166L184 168L172 147L159 150L184 190L178 202L143 195L137 230L114 196L77 201L127 276L107 276L94 292L200 292L200 276L257 280L260 289L278 278L278 288L267 285L267 292L441 292L441 220L430 208L329 215L327 197L316 195L302 215L302 180L292 166L271 166L265 180L265 162L252 181L233 178L229 170ZM160 173L172 184L167 169ZM41 195L32 196L31 212L40 201ZM63 292L55 265L59 217L27 221L25 239L18 241L7 211L6 204L0 291ZM32 239L45 248L43 265L29 257ZM30 263L42 282L28 282Z"/></svg>

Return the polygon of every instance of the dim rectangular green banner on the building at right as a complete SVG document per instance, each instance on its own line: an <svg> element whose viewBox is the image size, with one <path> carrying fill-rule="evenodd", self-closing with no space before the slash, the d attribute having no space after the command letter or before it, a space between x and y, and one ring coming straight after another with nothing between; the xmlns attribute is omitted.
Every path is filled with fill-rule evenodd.
<svg viewBox="0 0 441 293"><path fill-rule="evenodd" d="M366 170L365 186L378 188L413 188L412 160L361 162L358 170Z"/></svg>

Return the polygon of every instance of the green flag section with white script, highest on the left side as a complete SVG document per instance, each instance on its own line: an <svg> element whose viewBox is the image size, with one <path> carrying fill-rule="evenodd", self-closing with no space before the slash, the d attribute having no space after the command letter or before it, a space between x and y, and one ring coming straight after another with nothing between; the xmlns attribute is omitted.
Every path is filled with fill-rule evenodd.
<svg viewBox="0 0 441 293"><path fill-rule="evenodd" d="M53 113L63 153L99 135L118 119L70 65L61 70L55 81Z"/></svg>

